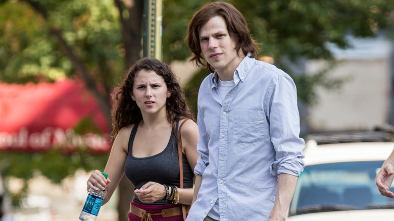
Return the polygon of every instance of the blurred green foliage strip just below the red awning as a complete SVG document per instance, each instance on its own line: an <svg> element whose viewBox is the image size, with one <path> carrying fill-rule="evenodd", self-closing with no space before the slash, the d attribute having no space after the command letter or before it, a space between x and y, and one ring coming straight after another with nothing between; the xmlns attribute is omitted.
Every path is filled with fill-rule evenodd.
<svg viewBox="0 0 394 221"><path fill-rule="evenodd" d="M27 181L33 178L36 172L59 184L80 168L86 171L104 170L107 159L108 154L91 154L82 150L65 152L60 148L45 152L2 151L0 174L3 178L16 177L25 182L20 192L8 193L13 205L17 205L26 196ZM7 186L6 188L8 189Z"/></svg>

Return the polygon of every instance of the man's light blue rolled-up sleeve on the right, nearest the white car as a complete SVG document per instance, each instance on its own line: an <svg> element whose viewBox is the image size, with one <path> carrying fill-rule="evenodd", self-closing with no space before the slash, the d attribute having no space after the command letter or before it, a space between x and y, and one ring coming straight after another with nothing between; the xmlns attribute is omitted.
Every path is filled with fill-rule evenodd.
<svg viewBox="0 0 394 221"><path fill-rule="evenodd" d="M271 142L276 151L270 173L300 176L304 170L304 139L300 138L297 89L288 75L274 78L267 98Z"/></svg>

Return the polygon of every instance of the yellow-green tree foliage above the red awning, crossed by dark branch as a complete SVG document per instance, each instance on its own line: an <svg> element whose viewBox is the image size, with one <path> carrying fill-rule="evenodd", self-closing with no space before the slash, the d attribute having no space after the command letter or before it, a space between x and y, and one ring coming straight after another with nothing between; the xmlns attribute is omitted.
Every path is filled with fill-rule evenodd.
<svg viewBox="0 0 394 221"><path fill-rule="evenodd" d="M53 29L72 47L97 82L114 84L123 60L121 34L112 1L36 1L47 12L47 20L26 2L9 1L0 7L0 81L24 83L53 81L71 76L75 67ZM37 75L40 77L37 78Z"/></svg>

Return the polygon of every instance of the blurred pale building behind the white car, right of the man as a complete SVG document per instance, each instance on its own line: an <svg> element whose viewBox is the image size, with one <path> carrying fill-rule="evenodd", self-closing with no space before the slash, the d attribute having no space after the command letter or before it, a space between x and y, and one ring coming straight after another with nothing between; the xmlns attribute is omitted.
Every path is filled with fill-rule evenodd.
<svg viewBox="0 0 394 221"><path fill-rule="evenodd" d="M307 132L372 130L394 123L394 44L384 38L347 38L351 48L328 44L337 65L329 77L346 79L337 90L317 89L318 101L302 113ZM313 74L324 61L307 61Z"/></svg>

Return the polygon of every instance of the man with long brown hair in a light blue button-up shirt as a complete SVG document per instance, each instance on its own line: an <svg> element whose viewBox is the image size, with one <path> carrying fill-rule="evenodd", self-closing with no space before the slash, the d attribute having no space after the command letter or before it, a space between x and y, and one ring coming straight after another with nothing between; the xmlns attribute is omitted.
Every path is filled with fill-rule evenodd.
<svg viewBox="0 0 394 221"><path fill-rule="evenodd" d="M215 2L191 19L187 45L211 73L201 84L201 157L187 220L284 220L305 142L292 79L257 61L256 43L232 5Z"/></svg>

